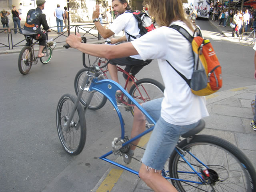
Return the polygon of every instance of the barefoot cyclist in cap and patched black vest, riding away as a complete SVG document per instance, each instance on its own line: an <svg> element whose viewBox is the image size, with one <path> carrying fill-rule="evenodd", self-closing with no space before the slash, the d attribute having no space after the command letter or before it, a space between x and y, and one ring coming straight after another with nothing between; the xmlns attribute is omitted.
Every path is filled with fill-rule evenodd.
<svg viewBox="0 0 256 192"><path fill-rule="evenodd" d="M39 42L38 57L44 56L44 54L42 54L42 50L46 43L46 35L41 31L41 25L43 25L44 30L48 32L51 31L47 24L46 16L42 12L45 2L45 0L36 0L37 8L28 11L26 22L22 30L27 41L27 46L30 46L30 40L26 36L33 36L33 38Z"/></svg>

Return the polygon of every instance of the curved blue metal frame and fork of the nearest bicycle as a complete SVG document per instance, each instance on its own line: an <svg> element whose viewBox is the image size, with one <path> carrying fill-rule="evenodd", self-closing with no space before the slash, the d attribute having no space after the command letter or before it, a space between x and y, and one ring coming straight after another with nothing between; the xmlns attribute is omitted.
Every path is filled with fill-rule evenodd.
<svg viewBox="0 0 256 192"><path fill-rule="evenodd" d="M100 71L100 69L98 68L98 71ZM102 73L102 72L101 72ZM67 125L65 127L66 130L69 129L69 125L70 125L70 122L72 121L72 118L74 116L74 113L76 111L76 108L78 106L78 103L80 102L80 98L82 96L82 92L83 91L88 91L90 92L90 95L88 96L88 100L86 102L86 107L85 107L85 112L87 110L87 107L88 105L90 104L90 101L94 95L94 91L97 91L97 92L100 92L101 94L103 94L104 96L106 96L106 98L108 98L108 100L112 103L112 105L114 106L117 114L118 114L118 118L120 120L120 124L121 124L121 139L124 139L124 121L123 121L123 118L122 118L122 114L117 106L117 103L116 103L116 91L117 90L121 90L123 92L123 94L128 98L130 99L136 107L139 108L140 111L142 111L142 113L149 119L153 122L153 124L155 125L156 122L155 120L146 112L146 110L144 110L144 108L142 108L142 106L140 106L140 104L138 104L138 102L136 102L136 100L134 100L134 98L132 98L132 96L130 96L130 94L128 94L128 92L126 92L126 90L124 90L124 88L122 88L122 86L120 86L120 84L118 84L117 82L113 81L113 80L108 80L108 79L104 79L104 80L98 80L98 78L100 77L96 77L94 76L94 74L91 74L90 72L86 72L87 76L84 78L84 81L82 83L82 86L80 87L80 91L78 93L78 96L76 98L76 102L74 104L74 107L72 109L72 112L70 114L70 118L67 122ZM104 74L102 73L101 76L103 76ZM89 79L89 76L92 76L94 77L92 82L91 82L91 85L89 88L85 88L86 86L86 82L88 81ZM87 104L88 103L88 104ZM137 135L136 137L128 140L127 142L125 142L124 144L122 144L122 146L126 146L130 143L132 143L134 140L137 140L138 138L144 136L145 134L151 132L152 130L154 129L154 126L152 126L151 128L149 128L148 130L145 130L144 132L142 132L141 134ZM65 130L65 131L66 131ZM178 154L182 157L182 159L188 164L188 166L190 166L190 168L193 170L193 172L183 172L183 173L188 173L188 174L196 174L198 175L198 177L200 178L200 180L202 182L196 182L196 181L191 181L191 180L183 180L183 179L177 179L177 178L170 178L170 177L166 177L165 176L165 170L162 171L162 174L164 176L164 178L166 179L171 179L171 180L178 180L178 181L183 181L183 182L190 182L190 183L195 183L195 184L203 184L204 183L204 178L202 178L202 174L200 172L197 172L194 167L186 160L186 158L184 157L183 154L180 153L179 149L176 147L175 150L178 152ZM139 175L139 173L136 171L136 170L133 170L133 169L130 169L122 164L118 164L117 162L114 162L112 160L109 160L107 157L109 155L111 155L113 152L112 150L107 152L106 154L100 156L99 158L106 161L106 162L109 162L115 166L118 166L124 170L127 170L133 174L136 174L136 175ZM208 168L208 166L206 166L205 164L203 164L198 158L196 158L196 156L194 156L192 153L188 152L194 159L196 159L200 164L202 164L202 166L205 166L206 168Z"/></svg>

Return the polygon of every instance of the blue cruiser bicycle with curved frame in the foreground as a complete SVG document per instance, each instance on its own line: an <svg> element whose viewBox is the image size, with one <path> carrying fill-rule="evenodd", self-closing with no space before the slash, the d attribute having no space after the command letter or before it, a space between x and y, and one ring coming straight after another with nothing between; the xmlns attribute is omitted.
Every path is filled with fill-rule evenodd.
<svg viewBox="0 0 256 192"><path fill-rule="evenodd" d="M100 159L138 175L138 171L114 162L108 159L108 156L111 154L121 156L127 152L128 144L151 132L154 126L129 140L124 134L124 122L117 106L116 90L121 90L153 124L156 122L122 86L113 80L100 80L104 74L98 65L94 65L93 68L93 72L86 72L77 97L64 94L58 102L56 123L60 142L65 151L71 155L78 155L83 150L86 141L84 113L94 93L100 92L114 106L121 124L120 138L114 138L112 150L102 155ZM89 79L90 87L87 86ZM80 98L84 91L89 95L83 109ZM204 126L204 120L200 120L196 128L182 135L184 139L176 145L162 170L162 175L181 192L255 192L256 172L250 160L241 150L226 140L210 135L196 135Z"/></svg>

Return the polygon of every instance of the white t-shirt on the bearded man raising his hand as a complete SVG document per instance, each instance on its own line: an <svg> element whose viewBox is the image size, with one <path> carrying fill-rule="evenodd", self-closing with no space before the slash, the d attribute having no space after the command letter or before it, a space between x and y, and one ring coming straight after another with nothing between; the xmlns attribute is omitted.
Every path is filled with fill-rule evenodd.
<svg viewBox="0 0 256 192"><path fill-rule="evenodd" d="M114 32L115 34L120 33L122 30L124 30L125 32L127 32L128 34L139 38L140 37L140 30L138 28L138 22L136 20L136 18L133 16L132 13L125 11L123 14L119 15L114 21L113 23L110 25L110 27L108 28L110 29L112 32ZM129 38L129 35L127 35L125 33L126 39ZM133 39L132 37L130 37L131 39ZM134 59L142 59L139 55L133 55L130 56L131 58Z"/></svg>

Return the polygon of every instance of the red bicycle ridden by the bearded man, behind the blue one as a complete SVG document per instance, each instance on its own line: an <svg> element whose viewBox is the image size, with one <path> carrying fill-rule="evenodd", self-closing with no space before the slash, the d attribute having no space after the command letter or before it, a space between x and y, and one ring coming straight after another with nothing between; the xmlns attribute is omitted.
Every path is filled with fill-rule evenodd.
<svg viewBox="0 0 256 192"><path fill-rule="evenodd" d="M110 75L108 74L108 68L107 68L109 60L105 58L98 58L98 57L87 55L88 64L86 64L86 55L87 54L83 54L83 65L85 68L79 70L75 77L74 88L75 88L76 95L78 95L78 92L80 90L84 77L86 76L86 72L90 71L94 73L94 68L91 67L93 64L98 64L99 68L102 70L104 74L102 78L108 79L108 77L110 77ZM94 60L92 64L90 62L91 60ZM118 69L118 76L120 76L121 74L126 74L128 76L127 80L124 83L120 82L121 85L124 84L123 87L125 90L127 90L128 81L132 80L133 85L130 88L129 94L138 103L148 102L150 100L161 98L164 96L163 94L164 86L160 82L150 78L143 78L143 79L137 80L131 73L124 71L119 66L117 66L117 69ZM123 79L123 78L120 77L119 79ZM92 82L92 79L88 80L86 87L90 86L90 82ZM85 101L87 100L88 95L89 95L88 92L83 92L83 95L80 99L80 102L84 106L86 106ZM94 91L94 96L92 97L92 101L90 102L88 108L91 110L98 110L105 105L106 101L107 101L107 98L104 95ZM119 103L118 106L124 107L125 110L130 111L132 115L134 114L134 110L133 110L134 104L128 98L126 98L126 96L123 93L120 96L116 96L116 101Z"/></svg>

